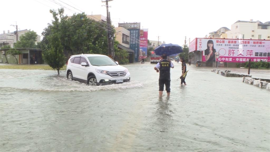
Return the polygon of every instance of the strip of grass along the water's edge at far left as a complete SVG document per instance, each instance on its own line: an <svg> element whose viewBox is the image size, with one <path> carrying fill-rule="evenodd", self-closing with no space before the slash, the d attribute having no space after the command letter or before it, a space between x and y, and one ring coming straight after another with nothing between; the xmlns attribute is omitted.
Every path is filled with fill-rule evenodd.
<svg viewBox="0 0 270 152"><path fill-rule="evenodd" d="M10 64L10 65L0 65L0 69L53 70L47 64L32 64L32 65L28 65L28 64L27 65L25 65L25 64ZM66 70L66 65L64 65L63 68L61 68L60 70Z"/></svg>

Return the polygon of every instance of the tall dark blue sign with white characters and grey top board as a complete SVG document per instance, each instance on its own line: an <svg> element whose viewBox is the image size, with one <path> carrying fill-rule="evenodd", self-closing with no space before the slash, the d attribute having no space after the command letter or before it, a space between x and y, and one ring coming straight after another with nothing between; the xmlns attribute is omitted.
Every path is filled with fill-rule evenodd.
<svg viewBox="0 0 270 152"><path fill-rule="evenodd" d="M139 62L140 23L118 23L118 27L123 27L130 31L129 48L134 51L134 61Z"/></svg>

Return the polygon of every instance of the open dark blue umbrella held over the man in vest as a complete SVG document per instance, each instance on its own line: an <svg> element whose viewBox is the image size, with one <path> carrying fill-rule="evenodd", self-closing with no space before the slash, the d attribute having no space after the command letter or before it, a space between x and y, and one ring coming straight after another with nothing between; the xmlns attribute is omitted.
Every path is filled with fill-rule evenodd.
<svg viewBox="0 0 270 152"><path fill-rule="evenodd" d="M169 55L177 55L183 52L183 50L182 47L180 47L180 45L169 43L169 44L161 44L159 47L154 49L154 52L156 53L156 55L166 54L167 56L169 56Z"/></svg>

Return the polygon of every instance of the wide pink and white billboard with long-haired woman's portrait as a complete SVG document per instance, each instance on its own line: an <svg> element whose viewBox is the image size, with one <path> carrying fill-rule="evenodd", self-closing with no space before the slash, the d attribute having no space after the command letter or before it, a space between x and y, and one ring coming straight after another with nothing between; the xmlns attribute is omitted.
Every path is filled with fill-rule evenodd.
<svg viewBox="0 0 270 152"><path fill-rule="evenodd" d="M270 62L270 40L195 38L195 43L190 52L203 51L204 62Z"/></svg>

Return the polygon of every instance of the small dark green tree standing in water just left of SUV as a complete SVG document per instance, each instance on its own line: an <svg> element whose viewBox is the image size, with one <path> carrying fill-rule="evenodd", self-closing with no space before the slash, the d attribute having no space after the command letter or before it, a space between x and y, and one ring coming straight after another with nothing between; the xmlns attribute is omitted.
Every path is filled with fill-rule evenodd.
<svg viewBox="0 0 270 152"><path fill-rule="evenodd" d="M60 35L55 33L47 37L47 39L49 44L46 46L46 51L43 51L44 59L53 70L57 70L59 75L59 70L65 65L66 61Z"/></svg>

